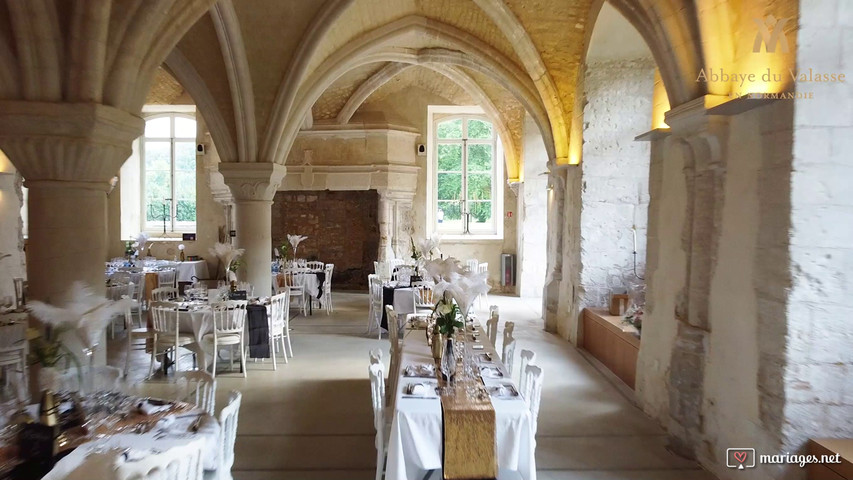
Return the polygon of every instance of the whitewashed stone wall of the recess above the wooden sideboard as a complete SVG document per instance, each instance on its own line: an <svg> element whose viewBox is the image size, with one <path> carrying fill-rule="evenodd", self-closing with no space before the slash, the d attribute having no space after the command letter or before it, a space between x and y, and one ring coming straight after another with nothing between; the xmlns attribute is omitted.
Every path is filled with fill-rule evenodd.
<svg viewBox="0 0 853 480"><path fill-rule="evenodd" d="M651 125L654 61L611 60L587 66L581 195L580 307L604 306L634 276L632 226L637 229L637 273L646 259L649 144L634 137Z"/></svg>

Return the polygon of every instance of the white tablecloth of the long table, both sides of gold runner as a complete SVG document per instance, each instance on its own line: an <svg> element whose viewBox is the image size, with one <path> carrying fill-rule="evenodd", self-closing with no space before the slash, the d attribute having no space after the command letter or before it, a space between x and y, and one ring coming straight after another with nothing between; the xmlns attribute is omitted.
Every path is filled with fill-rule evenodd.
<svg viewBox="0 0 853 480"><path fill-rule="evenodd" d="M483 330L479 329L479 331ZM469 340L467 343L468 348L471 348L474 342ZM511 385L511 388L517 392L517 385L507 375L506 368L498 360L494 347L488 341L482 344L482 350L469 351L469 354L475 357L488 354L493 359L492 362L484 362L480 366L494 368L502 375L502 378L484 378L485 386ZM426 398L404 394L409 384L429 380L402 375L408 366L417 367L433 363L432 353L423 332L408 331L400 358L400 372L389 373L389 375L399 374L400 376L397 390L394 392L395 403L388 443L386 479L423 478L426 472L442 468L444 442L442 401L438 395L433 396L433 394L427 394ZM432 381L434 379L433 376ZM509 398L493 396L491 403L495 413L495 457L499 470L516 472L524 480L535 480L535 440L527 403L520 396Z"/></svg>

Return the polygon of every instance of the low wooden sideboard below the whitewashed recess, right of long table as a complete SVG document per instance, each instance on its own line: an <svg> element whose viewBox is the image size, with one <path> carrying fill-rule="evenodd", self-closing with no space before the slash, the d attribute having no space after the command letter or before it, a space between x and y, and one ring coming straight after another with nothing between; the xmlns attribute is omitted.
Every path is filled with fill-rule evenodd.
<svg viewBox="0 0 853 480"><path fill-rule="evenodd" d="M629 387L637 377L640 338L637 329L605 308L583 310L583 347Z"/></svg>

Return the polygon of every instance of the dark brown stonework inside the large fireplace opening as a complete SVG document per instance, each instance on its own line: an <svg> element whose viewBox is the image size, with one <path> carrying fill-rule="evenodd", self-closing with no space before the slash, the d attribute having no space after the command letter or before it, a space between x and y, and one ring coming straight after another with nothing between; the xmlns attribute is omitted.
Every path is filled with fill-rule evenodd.
<svg viewBox="0 0 853 480"><path fill-rule="evenodd" d="M364 291L379 252L379 195L366 191L287 191L275 195L273 245L307 235L299 258L335 264L335 289Z"/></svg>

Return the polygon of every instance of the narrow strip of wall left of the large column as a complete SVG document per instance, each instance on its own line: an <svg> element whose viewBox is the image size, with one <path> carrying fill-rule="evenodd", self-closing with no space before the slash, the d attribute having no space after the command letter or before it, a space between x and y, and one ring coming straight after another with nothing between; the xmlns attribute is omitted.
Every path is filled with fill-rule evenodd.
<svg viewBox="0 0 853 480"><path fill-rule="evenodd" d="M23 223L21 220L21 176L0 152L0 300L13 297L12 279L26 278Z"/></svg>

